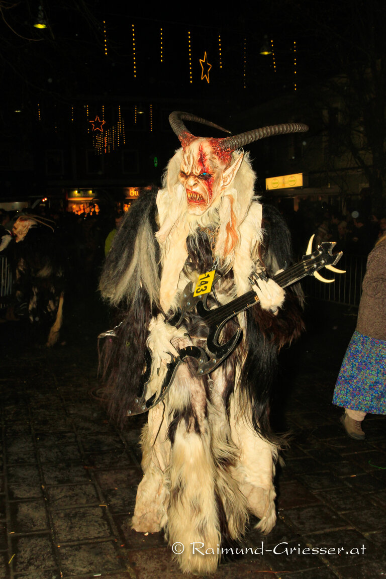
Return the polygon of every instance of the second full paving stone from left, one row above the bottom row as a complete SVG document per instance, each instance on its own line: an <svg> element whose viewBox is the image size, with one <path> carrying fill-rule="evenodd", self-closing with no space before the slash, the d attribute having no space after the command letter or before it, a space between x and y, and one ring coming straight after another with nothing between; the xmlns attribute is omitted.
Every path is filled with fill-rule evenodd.
<svg viewBox="0 0 386 579"><path fill-rule="evenodd" d="M52 511L58 543L109 538L112 530L105 518L106 507L81 507L77 510Z"/></svg>

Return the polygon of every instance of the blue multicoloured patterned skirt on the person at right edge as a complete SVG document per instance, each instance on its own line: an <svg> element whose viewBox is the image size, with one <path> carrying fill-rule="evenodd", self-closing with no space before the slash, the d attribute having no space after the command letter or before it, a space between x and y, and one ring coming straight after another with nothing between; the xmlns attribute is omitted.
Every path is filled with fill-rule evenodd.
<svg viewBox="0 0 386 579"><path fill-rule="evenodd" d="M336 382L333 404L386 414L386 341L354 332Z"/></svg>

